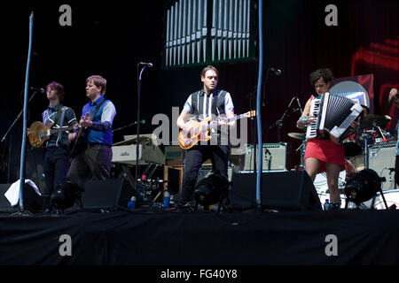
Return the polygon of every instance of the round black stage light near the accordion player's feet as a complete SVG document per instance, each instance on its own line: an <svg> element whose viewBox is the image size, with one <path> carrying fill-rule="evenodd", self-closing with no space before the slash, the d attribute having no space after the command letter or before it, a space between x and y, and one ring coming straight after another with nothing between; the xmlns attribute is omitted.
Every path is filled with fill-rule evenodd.
<svg viewBox="0 0 399 283"><path fill-rule="evenodd" d="M352 202L359 207L360 203L367 202L381 191L381 178L372 169L364 169L349 177L344 191L347 204Z"/></svg>

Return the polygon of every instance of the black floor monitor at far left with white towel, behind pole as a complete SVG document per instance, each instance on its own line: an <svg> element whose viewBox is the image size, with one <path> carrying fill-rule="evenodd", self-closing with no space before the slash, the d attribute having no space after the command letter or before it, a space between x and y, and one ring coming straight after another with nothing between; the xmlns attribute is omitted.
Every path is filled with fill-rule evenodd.
<svg viewBox="0 0 399 283"><path fill-rule="evenodd" d="M20 210L20 203L16 206L11 206L10 202L5 197L5 192L12 186L12 184L0 184L0 211L16 212ZM30 212L43 211L43 200L40 195L37 195L35 188L25 184L24 192L24 210Z"/></svg>

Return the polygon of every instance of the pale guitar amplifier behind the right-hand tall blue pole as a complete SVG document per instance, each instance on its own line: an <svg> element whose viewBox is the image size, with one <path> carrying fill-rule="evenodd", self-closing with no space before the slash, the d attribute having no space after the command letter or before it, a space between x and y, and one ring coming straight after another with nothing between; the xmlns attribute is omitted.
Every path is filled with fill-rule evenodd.
<svg viewBox="0 0 399 283"><path fill-rule="evenodd" d="M245 154L240 157L239 172L254 172L254 145L246 144ZM258 164L256 145L256 169ZM291 169L291 143L262 144L262 172L289 171Z"/></svg>

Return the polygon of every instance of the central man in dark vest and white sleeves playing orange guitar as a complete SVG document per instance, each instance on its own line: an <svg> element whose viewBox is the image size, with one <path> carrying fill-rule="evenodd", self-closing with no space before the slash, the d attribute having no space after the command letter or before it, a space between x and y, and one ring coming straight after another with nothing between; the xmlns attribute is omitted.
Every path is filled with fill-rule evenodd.
<svg viewBox="0 0 399 283"><path fill-rule="evenodd" d="M184 109L176 121L177 126L185 133L190 133L195 124L189 120L192 118L197 121L209 118L219 119L217 124L222 129L235 126L234 120L227 125L223 121L223 119L234 117L234 105L230 93L216 89L219 80L216 68L208 65L202 70L200 78L203 88L188 97L184 103ZM207 159L212 162L213 172L222 176L226 181L228 180L227 169L230 155L228 134L220 131L220 128L211 128L209 132L212 137L210 141L200 141L186 151L181 196L183 204L192 201L200 166Z"/></svg>

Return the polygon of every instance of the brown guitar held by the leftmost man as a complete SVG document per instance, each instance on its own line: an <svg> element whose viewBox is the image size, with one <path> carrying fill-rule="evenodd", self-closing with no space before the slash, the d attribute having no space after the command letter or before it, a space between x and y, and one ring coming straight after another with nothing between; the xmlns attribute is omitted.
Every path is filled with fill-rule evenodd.
<svg viewBox="0 0 399 283"><path fill-rule="evenodd" d="M45 142L50 140L51 134L59 134L74 129L74 126L62 126L53 129L51 128L52 126L54 126L54 123L45 126L42 122L33 122L27 129L27 137L30 145L35 149L39 149Z"/></svg>

